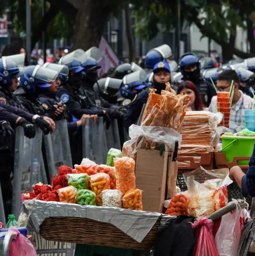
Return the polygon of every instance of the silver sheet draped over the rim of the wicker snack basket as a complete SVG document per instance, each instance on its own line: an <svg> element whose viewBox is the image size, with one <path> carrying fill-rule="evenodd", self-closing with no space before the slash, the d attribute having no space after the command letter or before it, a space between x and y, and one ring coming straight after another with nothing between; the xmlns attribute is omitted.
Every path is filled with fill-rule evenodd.
<svg viewBox="0 0 255 256"><path fill-rule="evenodd" d="M90 205L65 204L54 201L27 200L24 208L29 212L29 221L39 233L40 225L50 217L88 218L110 223L137 242L142 242L150 229L162 215L157 212L132 211L122 208L98 207ZM160 225L167 225L168 215L163 215ZM161 228L160 228L161 229Z"/></svg>

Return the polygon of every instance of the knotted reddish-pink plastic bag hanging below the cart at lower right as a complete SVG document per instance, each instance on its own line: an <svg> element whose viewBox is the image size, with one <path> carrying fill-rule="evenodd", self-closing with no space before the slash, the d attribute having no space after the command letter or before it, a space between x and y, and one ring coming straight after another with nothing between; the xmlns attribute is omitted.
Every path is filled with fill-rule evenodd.
<svg viewBox="0 0 255 256"><path fill-rule="evenodd" d="M206 217L192 224L192 228L200 228L200 230L196 231L198 239L194 248L194 256L219 256L212 234L213 225L213 221Z"/></svg>

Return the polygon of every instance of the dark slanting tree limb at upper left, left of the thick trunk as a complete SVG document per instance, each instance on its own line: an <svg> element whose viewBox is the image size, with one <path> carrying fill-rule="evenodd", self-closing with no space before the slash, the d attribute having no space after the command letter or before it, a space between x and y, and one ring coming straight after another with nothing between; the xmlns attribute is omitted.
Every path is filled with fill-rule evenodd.
<svg viewBox="0 0 255 256"><path fill-rule="evenodd" d="M50 9L44 15L40 23L32 31L31 49L34 48L36 42L41 38L42 32L46 31L48 24L54 19L54 17L56 17L57 14L58 8L51 5Z"/></svg>

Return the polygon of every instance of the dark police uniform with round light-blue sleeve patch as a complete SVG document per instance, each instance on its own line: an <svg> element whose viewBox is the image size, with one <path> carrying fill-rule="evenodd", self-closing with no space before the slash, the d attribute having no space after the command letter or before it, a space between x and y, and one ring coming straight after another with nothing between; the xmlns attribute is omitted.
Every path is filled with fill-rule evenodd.
<svg viewBox="0 0 255 256"><path fill-rule="evenodd" d="M99 116L104 114L101 109L92 106L91 101L85 97L81 90L73 90L68 83L59 87L57 97L67 105L69 111L75 118L80 119L83 114L97 114Z"/></svg>

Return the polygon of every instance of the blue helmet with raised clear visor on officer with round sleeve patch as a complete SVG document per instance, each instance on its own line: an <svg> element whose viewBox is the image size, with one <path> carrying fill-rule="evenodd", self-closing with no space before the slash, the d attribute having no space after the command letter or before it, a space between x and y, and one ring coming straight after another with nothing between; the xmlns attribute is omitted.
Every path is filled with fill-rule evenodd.
<svg viewBox="0 0 255 256"><path fill-rule="evenodd" d="M82 49L77 49L61 57L58 64L68 66L72 73L78 73L84 69L82 63L86 62L87 59L86 53Z"/></svg>

